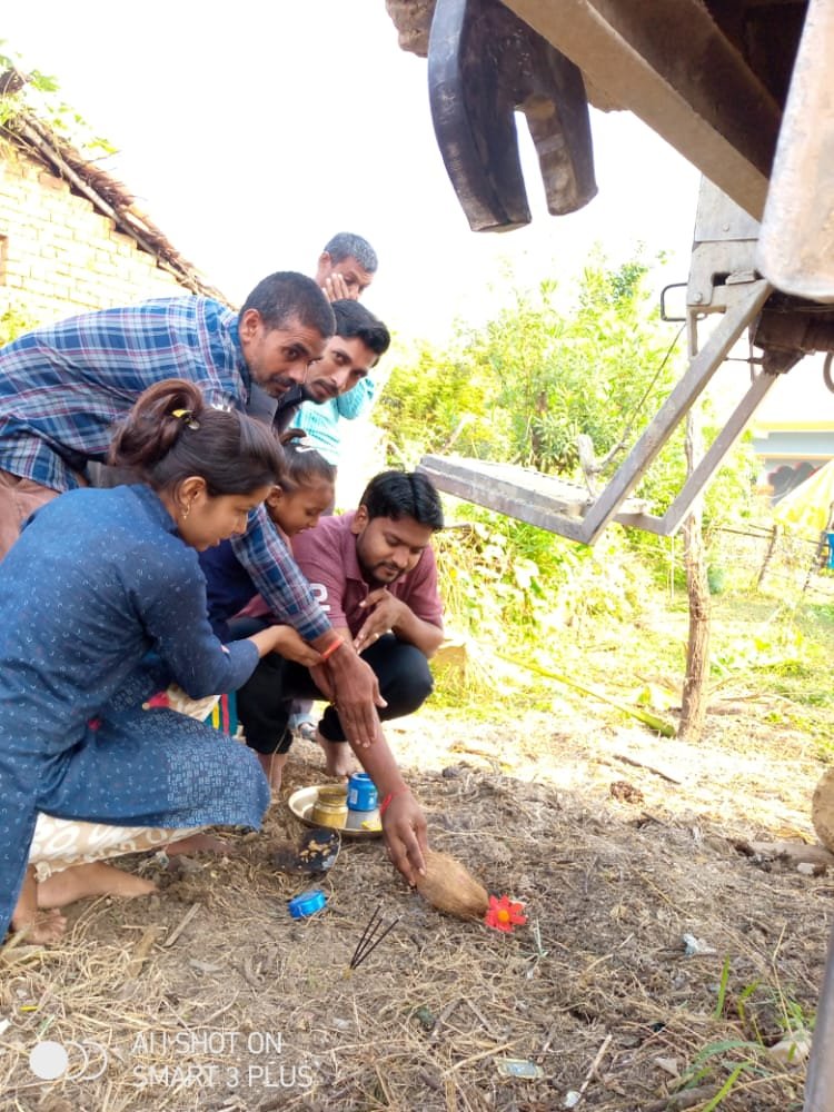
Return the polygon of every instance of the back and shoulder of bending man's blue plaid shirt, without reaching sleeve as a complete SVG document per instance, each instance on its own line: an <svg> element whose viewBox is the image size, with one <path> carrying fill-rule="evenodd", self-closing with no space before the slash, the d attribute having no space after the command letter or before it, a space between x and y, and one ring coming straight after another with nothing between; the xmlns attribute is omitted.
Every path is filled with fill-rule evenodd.
<svg viewBox="0 0 834 1112"><path fill-rule="evenodd" d="M244 408L248 375L235 315L210 298L102 309L0 349L0 467L53 490L103 459L113 425L153 383L187 378L216 406Z"/></svg>

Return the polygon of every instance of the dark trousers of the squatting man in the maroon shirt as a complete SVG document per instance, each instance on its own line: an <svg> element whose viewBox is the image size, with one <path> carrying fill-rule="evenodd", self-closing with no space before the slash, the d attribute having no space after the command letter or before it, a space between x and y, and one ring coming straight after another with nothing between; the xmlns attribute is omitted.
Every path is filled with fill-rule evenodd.
<svg viewBox="0 0 834 1112"><path fill-rule="evenodd" d="M434 681L428 661L418 648L398 641L394 634L385 634L366 648L363 659L374 669L383 698L388 703L378 708L383 722L411 714L431 694ZM308 668L270 653L238 688L238 718L247 745L258 753L286 753L292 744L288 721L294 698L320 699L322 695ZM332 706L325 711L318 728L329 742L346 741Z"/></svg>

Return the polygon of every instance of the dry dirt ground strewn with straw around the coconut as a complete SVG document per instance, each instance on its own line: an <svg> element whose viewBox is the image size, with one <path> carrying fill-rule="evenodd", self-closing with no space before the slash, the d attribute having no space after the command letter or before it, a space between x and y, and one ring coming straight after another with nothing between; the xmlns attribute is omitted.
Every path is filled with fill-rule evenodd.
<svg viewBox="0 0 834 1112"><path fill-rule="evenodd" d="M234 855L130 858L158 895L78 904L61 945L0 954L0 1108L801 1109L803 1062L770 1048L816 1009L832 881L749 845L815 841L823 765L772 711L725 693L697 745L558 701L390 724L433 846L524 902L507 935L436 912L378 840L319 881L276 872L304 831L282 801L321 782L296 746ZM311 883L327 909L294 921ZM348 975L377 907L398 922ZM52 1081L43 1041L67 1054Z"/></svg>

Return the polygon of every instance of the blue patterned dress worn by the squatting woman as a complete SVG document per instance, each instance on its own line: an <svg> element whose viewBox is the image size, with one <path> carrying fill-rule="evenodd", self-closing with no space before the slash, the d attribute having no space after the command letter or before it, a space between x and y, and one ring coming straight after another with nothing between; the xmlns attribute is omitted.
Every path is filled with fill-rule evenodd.
<svg viewBox="0 0 834 1112"><path fill-rule="evenodd" d="M0 940L39 811L260 825L254 753L142 708L170 681L192 698L232 691L257 663L251 643L215 637L197 553L149 487L72 490L33 516L0 563Z"/></svg>

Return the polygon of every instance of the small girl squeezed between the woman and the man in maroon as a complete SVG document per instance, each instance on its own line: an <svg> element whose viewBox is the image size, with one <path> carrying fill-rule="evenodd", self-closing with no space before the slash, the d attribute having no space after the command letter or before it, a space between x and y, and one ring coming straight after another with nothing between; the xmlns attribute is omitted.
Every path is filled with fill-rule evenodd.
<svg viewBox="0 0 834 1112"><path fill-rule="evenodd" d="M272 524L291 548L291 538L311 529L321 514L332 506L336 467L305 439L301 429L292 428L281 437L284 464L280 478L265 499ZM231 545L220 545L200 556L206 575L209 618L221 638L242 636L262 628L268 609L246 568L239 563ZM235 617L235 615L238 615ZM289 731L280 738L272 736L257 714L244 723L247 743L257 749L258 759L272 791L281 786L284 765L289 756L292 736Z"/></svg>

